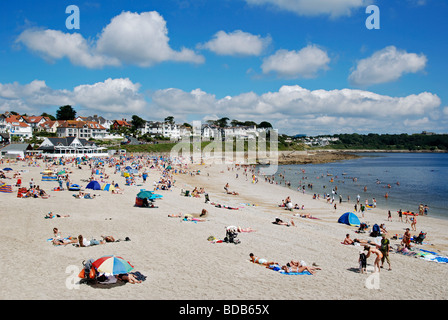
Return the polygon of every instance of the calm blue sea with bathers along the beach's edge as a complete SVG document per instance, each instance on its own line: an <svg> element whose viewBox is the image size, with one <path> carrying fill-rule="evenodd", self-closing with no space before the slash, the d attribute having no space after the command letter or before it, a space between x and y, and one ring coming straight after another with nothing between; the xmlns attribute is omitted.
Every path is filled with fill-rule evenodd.
<svg viewBox="0 0 448 320"><path fill-rule="evenodd" d="M375 198L377 207L384 209L385 215L391 210L393 217L398 209L418 212L419 204L423 204L428 206L429 216L448 219L447 153L359 155L362 158L326 164L282 165L275 180L282 185L289 181L293 190L305 186L307 194L321 197L324 193L332 196L337 188L335 200L341 195L346 202L350 196L353 205L358 194L361 203L366 199L372 203Z"/></svg>

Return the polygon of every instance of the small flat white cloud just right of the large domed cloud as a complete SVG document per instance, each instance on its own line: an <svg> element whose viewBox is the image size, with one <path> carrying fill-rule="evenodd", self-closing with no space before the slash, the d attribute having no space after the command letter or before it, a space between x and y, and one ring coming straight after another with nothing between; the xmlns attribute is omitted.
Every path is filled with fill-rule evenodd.
<svg viewBox="0 0 448 320"><path fill-rule="evenodd" d="M212 40L198 45L219 55L258 56L271 43L270 36L262 38L241 30L231 33L218 31Z"/></svg>

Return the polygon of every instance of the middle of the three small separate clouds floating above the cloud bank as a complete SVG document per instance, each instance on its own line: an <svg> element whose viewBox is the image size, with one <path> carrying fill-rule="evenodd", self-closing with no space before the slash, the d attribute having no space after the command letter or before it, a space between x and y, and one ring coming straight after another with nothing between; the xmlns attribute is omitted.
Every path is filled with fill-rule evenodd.
<svg viewBox="0 0 448 320"><path fill-rule="evenodd" d="M286 78L312 78L320 70L328 69L328 54L315 45L308 45L299 51L280 49L263 60L263 73L276 73Z"/></svg>

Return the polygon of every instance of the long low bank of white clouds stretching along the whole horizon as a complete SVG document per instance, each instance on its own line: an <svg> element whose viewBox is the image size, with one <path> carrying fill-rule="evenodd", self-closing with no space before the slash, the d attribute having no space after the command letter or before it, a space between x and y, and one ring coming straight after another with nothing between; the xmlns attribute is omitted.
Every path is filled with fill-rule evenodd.
<svg viewBox="0 0 448 320"><path fill-rule="evenodd" d="M127 78L83 84L72 90L56 90L44 81L0 84L0 110L28 114L54 113L70 104L79 115L100 114L109 119L162 120L176 122L211 116L237 120L269 121L280 133L333 134L369 132L446 131L443 119L448 107L429 92L392 97L365 90L308 90L298 85L256 94L245 92L217 98L201 89L168 88L154 91L147 101L138 83ZM445 117L435 117L434 114ZM441 120L442 119L442 120Z"/></svg>

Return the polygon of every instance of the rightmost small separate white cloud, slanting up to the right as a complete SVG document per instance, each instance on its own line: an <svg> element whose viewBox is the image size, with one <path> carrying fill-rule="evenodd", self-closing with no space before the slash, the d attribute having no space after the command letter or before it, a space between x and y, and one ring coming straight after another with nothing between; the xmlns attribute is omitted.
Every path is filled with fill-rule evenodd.
<svg viewBox="0 0 448 320"><path fill-rule="evenodd" d="M407 53L389 46L360 60L350 74L349 80L354 85L360 86L392 82L406 73L422 71L426 62L424 54Z"/></svg>

